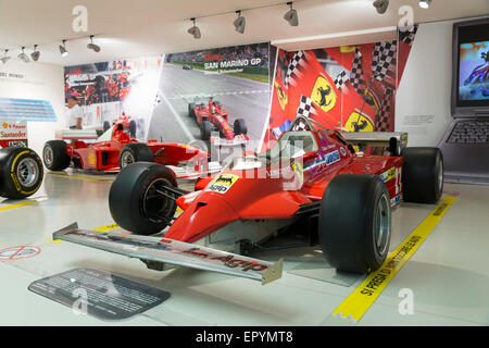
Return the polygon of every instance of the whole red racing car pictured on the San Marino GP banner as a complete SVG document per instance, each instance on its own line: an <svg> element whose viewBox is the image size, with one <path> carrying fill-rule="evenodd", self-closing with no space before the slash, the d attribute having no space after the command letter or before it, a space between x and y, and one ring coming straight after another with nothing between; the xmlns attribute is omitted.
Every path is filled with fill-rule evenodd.
<svg viewBox="0 0 489 348"><path fill-rule="evenodd" d="M229 126L227 111L223 105L209 98L208 104L195 102L188 104L188 115L196 119L200 126L200 136L202 140L210 140L212 145L218 146L236 146L244 145L249 138L247 136L248 128L243 119L237 119L234 127ZM213 136L213 132L218 132L220 136Z"/></svg>

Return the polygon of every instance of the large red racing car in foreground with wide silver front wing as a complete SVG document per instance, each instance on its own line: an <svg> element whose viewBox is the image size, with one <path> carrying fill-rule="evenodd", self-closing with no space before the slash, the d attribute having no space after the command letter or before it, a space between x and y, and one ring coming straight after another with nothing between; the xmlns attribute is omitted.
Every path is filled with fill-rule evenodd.
<svg viewBox="0 0 489 348"><path fill-rule="evenodd" d="M71 226L54 238L139 258L152 269L179 264L267 283L280 276L280 261L237 253L294 224L331 266L371 272L389 251L391 208L402 200L435 203L443 189L439 149L406 148L405 134L375 135L358 138L388 146L388 156L358 154L354 137L349 142L301 116L273 148L234 159L188 194L165 166L136 163L118 174L109 198L114 221L131 235ZM183 213L174 217L177 206ZM161 231L164 237L148 236Z"/></svg>

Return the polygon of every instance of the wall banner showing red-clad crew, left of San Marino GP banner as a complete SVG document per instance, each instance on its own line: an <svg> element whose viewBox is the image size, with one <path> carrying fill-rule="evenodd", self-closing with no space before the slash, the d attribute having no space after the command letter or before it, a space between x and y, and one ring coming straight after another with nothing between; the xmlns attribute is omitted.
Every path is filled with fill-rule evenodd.
<svg viewBox="0 0 489 348"><path fill-rule="evenodd" d="M120 116L136 122L145 140L156 103L162 57L143 57L66 66L65 101L74 96L84 111L84 128L106 128Z"/></svg>

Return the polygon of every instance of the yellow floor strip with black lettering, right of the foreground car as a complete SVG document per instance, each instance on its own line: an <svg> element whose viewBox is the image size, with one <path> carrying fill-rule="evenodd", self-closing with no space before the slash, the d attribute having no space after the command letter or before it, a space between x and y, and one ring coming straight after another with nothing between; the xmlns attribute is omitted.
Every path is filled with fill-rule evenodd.
<svg viewBox="0 0 489 348"><path fill-rule="evenodd" d="M408 238L389 254L383 266L371 273L365 281L333 312L336 318L358 322L384 291L399 270L416 252L428 235L435 229L444 213L456 200L456 197L448 196L414 229Z"/></svg>

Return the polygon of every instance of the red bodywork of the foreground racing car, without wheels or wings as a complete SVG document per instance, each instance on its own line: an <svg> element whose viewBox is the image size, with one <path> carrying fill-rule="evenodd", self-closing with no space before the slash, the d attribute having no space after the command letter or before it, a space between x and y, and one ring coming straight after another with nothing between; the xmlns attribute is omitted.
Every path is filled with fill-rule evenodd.
<svg viewBox="0 0 489 348"><path fill-rule="evenodd" d="M293 132L285 134L290 133ZM328 183L338 174L378 175L387 185L391 204L400 202L402 158L356 157L338 133L309 134L316 141L315 150L286 161L280 177L269 166L237 171L230 165L213 177L199 181L195 192L177 200L184 212L165 237L195 243L236 220L292 219L302 204L319 201ZM284 185L293 183L294 188L285 189Z"/></svg>

